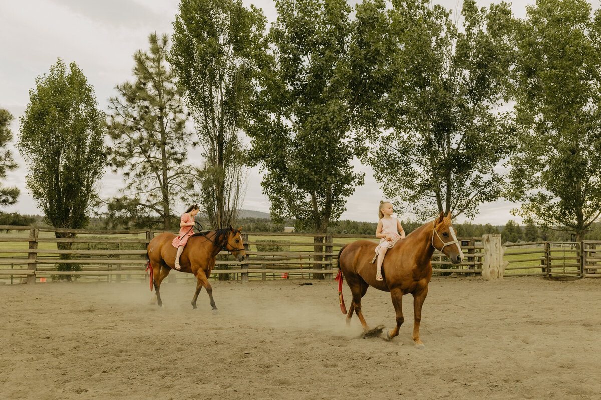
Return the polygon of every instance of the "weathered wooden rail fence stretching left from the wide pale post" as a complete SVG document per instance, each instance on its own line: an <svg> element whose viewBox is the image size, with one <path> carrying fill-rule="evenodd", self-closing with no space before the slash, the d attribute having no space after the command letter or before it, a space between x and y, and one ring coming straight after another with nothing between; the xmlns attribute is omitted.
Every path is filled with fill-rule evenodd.
<svg viewBox="0 0 601 400"><path fill-rule="evenodd" d="M0 279L11 283L35 283L70 275L82 280L144 281L148 279L146 246L157 232L60 230L44 227L0 226ZM56 238L56 233L75 234L73 238ZM232 257L216 261L212 278L228 274L233 279L312 278L322 274L333 279L338 251L358 239L377 242L373 236L310 233L243 233L248 260L239 263ZM451 265L444 255L435 252L435 274L481 273L481 238L462 237L465 261ZM319 242L319 243L316 243ZM58 249L58 243L72 243L71 249ZM59 260L68 255L69 260ZM221 255L227 256L222 252ZM79 271L57 271L57 264L74 264ZM194 279L189 274L169 275L169 279Z"/></svg>

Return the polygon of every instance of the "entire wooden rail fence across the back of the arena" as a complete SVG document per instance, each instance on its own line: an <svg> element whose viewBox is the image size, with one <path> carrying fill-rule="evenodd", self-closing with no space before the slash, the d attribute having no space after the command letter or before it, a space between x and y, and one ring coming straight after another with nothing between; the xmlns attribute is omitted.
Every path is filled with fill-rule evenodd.
<svg viewBox="0 0 601 400"><path fill-rule="evenodd" d="M59 230L43 227L0 226L0 279L29 284L70 275L83 281L148 281L146 246L155 231ZM75 234L56 238L56 233ZM243 233L248 260L232 257L216 261L212 279L228 274L232 279L266 280L312 278L322 274L333 279L338 251L358 239L377 242L373 236L310 233ZM432 257L435 275L476 276L482 272L486 252L481 237L459 238L465 260L452 265L438 251ZM319 242L319 243L316 243ZM72 243L58 249L57 243ZM510 264L505 276L566 275L601 276L601 242L535 242L509 244L504 260ZM59 260L59 255L69 260ZM222 253L224 257L227 253ZM57 271L57 264L75 264L79 271ZM169 275L169 279L195 279L190 274Z"/></svg>

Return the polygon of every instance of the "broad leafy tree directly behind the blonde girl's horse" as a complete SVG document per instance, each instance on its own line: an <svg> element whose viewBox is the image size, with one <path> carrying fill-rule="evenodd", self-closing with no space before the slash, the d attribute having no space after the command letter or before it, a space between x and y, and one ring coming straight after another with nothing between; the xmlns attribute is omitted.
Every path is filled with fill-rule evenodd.
<svg viewBox="0 0 601 400"><path fill-rule="evenodd" d="M418 218L477 214L502 194L511 151L507 101L513 19L507 4L466 0L463 29L426 0L357 8L350 79L368 139L364 160L395 206Z"/></svg>

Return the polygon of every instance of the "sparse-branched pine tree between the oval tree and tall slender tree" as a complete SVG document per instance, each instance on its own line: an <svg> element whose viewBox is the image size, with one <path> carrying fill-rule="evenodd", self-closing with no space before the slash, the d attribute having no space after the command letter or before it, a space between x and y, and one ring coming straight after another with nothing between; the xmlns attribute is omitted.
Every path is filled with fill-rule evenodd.
<svg viewBox="0 0 601 400"><path fill-rule="evenodd" d="M110 100L108 135L112 141L110 165L123 172L123 196L111 199L112 220L134 220L171 230L175 203L188 203L194 190L195 169L186 164L188 148L195 145L185 130L187 115L181 91L165 60L166 35L148 37L150 51L138 50L133 59L134 82L117 85Z"/></svg>

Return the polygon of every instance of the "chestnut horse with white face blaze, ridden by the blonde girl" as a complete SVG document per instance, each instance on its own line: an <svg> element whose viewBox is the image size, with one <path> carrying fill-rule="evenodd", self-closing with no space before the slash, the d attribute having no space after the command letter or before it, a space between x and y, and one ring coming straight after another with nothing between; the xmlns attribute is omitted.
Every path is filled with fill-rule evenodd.
<svg viewBox="0 0 601 400"><path fill-rule="evenodd" d="M445 217L441 212L438 219L416 229L389 249L382 264L383 281L376 281L376 264L370 263L375 249L376 243L357 240L341 248L338 253L338 274L344 275L353 295L346 322L350 323L354 311L363 329L367 331L367 323L361 313L361 297L365 296L370 286L377 290L389 291L397 317L397 326L386 333L387 338L392 339L398 335L398 329L404 321L401 307L403 295L411 293L415 320L413 342L417 347L423 348L424 344L419 340L419 321L421 306L426 300L428 284L432 278L432 254L437 249L450 258L453 264L463 261L463 252L457 241L456 231L451 225L451 213ZM340 276L337 279L340 279ZM340 300L341 310L346 314L341 296Z"/></svg>

